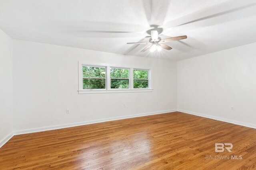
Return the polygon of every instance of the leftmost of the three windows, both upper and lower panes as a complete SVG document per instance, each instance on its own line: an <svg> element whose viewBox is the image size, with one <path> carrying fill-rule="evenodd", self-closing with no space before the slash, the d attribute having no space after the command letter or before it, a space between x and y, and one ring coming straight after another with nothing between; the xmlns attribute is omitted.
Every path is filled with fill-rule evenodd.
<svg viewBox="0 0 256 170"><path fill-rule="evenodd" d="M83 66L83 89L106 89L106 67Z"/></svg>

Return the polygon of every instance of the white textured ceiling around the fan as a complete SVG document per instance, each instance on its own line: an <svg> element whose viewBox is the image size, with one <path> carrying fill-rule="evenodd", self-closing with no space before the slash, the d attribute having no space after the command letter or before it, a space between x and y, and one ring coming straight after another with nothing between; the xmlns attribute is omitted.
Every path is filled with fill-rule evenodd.
<svg viewBox="0 0 256 170"><path fill-rule="evenodd" d="M170 51L140 53L158 25ZM183 60L256 42L255 0L0 0L0 29L14 39Z"/></svg>

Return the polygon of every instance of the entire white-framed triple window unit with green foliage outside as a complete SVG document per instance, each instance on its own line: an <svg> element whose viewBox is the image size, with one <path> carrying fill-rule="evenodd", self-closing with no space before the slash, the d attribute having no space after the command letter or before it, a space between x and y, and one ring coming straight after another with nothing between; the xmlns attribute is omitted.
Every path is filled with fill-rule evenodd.
<svg viewBox="0 0 256 170"><path fill-rule="evenodd" d="M78 64L79 94L153 92L150 70Z"/></svg>

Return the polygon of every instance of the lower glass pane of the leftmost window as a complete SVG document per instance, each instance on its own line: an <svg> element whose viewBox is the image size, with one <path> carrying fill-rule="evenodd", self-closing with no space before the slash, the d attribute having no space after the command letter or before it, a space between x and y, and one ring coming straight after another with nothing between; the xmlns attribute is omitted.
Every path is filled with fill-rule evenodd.
<svg viewBox="0 0 256 170"><path fill-rule="evenodd" d="M83 79L83 89L106 88L106 79Z"/></svg>

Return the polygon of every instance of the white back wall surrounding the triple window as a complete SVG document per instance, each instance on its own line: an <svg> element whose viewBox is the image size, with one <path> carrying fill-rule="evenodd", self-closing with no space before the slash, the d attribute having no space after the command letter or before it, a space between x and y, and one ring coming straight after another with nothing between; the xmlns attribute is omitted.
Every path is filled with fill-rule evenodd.
<svg viewBox="0 0 256 170"><path fill-rule="evenodd" d="M13 60L15 131L177 107L176 62L21 40L14 40ZM150 68L154 91L78 94L78 61Z"/></svg>

